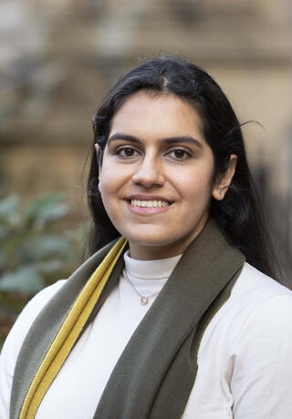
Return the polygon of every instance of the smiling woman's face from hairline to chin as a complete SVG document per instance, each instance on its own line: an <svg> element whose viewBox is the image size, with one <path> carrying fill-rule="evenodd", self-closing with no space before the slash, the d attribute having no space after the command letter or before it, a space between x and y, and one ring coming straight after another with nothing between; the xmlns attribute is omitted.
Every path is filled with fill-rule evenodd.
<svg viewBox="0 0 292 419"><path fill-rule="evenodd" d="M183 253L205 224L214 157L193 107L140 91L112 119L99 190L135 259Z"/></svg>

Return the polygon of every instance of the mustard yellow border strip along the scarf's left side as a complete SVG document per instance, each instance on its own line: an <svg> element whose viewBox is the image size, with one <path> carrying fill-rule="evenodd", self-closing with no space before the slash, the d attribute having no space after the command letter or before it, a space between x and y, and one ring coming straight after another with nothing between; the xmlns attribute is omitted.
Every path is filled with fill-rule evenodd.
<svg viewBox="0 0 292 419"><path fill-rule="evenodd" d="M117 241L79 293L78 298L73 303L65 321L36 371L26 393L19 419L35 418L39 405L58 371L66 361L74 343L77 341L78 335L98 301L101 291L110 277L110 272L118 261L126 242L127 240L123 237Z"/></svg>

